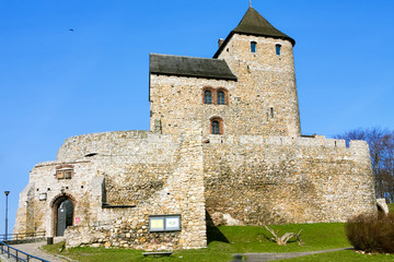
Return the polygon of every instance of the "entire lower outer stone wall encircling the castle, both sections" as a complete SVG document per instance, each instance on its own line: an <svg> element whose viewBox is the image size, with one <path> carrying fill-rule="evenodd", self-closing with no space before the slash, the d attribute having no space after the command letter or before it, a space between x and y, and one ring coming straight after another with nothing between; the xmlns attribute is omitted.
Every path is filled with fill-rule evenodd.
<svg viewBox="0 0 394 262"><path fill-rule="evenodd" d="M125 131L68 139L56 162L31 171L15 231L54 235L62 195L73 200L79 218L66 230L69 247L204 247L206 211L215 225L344 222L376 211L363 141L346 147L320 135L202 136L200 123L185 124L183 135ZM71 179L57 179L62 166L72 167ZM181 214L182 230L149 233L149 216L163 214Z"/></svg>

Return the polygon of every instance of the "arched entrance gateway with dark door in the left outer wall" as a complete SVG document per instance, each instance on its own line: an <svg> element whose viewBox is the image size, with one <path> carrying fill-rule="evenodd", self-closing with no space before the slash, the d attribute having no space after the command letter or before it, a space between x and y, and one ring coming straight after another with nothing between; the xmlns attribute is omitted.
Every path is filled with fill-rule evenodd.
<svg viewBox="0 0 394 262"><path fill-rule="evenodd" d="M67 193L59 194L51 201L54 236L63 236L66 228L73 225L76 204L76 199Z"/></svg>

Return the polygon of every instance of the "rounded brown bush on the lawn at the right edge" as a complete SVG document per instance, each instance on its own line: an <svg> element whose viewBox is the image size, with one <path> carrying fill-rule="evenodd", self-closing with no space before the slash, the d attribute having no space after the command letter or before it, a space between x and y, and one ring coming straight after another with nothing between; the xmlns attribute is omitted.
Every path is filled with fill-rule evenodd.
<svg viewBox="0 0 394 262"><path fill-rule="evenodd" d="M394 253L394 214L359 215L346 223L345 230L356 250Z"/></svg>

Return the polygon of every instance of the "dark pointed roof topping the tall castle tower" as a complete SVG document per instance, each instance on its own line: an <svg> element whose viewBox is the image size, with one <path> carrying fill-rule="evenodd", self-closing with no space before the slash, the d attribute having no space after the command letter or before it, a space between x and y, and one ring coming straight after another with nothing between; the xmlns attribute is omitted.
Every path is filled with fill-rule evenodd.
<svg viewBox="0 0 394 262"><path fill-rule="evenodd" d="M215 53L213 58L217 58L219 53L222 51L227 41L229 41L230 37L234 34L243 34L243 35L256 35L256 36L268 36L273 38L286 39L291 41L294 46L296 40L290 36L281 33L277 28L275 28L266 19L264 19L255 9L250 7L242 17L240 24L229 34L225 38L221 48Z"/></svg>

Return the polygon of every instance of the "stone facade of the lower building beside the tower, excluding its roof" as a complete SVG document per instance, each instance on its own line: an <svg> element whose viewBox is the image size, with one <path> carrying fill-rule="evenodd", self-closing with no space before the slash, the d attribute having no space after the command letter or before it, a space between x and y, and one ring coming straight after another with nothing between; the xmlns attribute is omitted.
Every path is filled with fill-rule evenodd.
<svg viewBox="0 0 394 262"><path fill-rule="evenodd" d="M202 103L205 87L225 88L229 105L206 105ZM210 133L210 119L220 116L224 132L236 132L239 126L247 126L236 115L239 100L235 95L236 82L184 76L150 75L151 130L161 123L161 133L179 134L184 120L200 121L202 133ZM246 130L245 127L244 130Z"/></svg>

